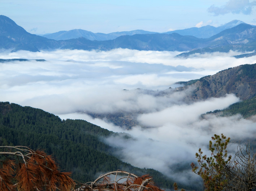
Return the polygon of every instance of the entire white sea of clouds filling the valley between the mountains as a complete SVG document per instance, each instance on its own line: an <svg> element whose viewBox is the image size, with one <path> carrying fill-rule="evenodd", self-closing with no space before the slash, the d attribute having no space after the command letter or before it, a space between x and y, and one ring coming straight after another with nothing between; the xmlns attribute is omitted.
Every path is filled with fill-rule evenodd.
<svg viewBox="0 0 256 191"><path fill-rule="evenodd" d="M193 177L192 172L178 171L177 164L190 168L190 163L196 161L195 152L199 147L206 151L215 133L224 133L235 140L255 137L256 123L240 115L200 117L238 102L234 95L187 104L182 100L190 91L155 96L137 88L172 91L168 88L175 88L175 82L213 75L241 64L254 64L256 56L235 59L231 56L239 53L230 51L175 58L178 54L129 49L2 51L1 59L46 61L0 63L0 101L32 106L62 119L84 119L114 132L129 133L134 139L110 137L105 140L119 148L116 155L123 161L187 181ZM135 126L127 130L85 114L117 111L143 111L137 120L148 128ZM231 153L236 146L230 144Z"/></svg>

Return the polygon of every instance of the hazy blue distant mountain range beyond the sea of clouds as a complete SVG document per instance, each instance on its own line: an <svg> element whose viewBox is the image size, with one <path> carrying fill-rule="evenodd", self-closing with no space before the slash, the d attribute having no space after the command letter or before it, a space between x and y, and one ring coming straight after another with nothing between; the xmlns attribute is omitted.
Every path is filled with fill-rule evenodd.
<svg viewBox="0 0 256 191"><path fill-rule="evenodd" d="M32 35L25 29L18 26L12 19L0 15L0 49L10 49L12 51L29 50L54 50L54 49L79 49L79 50L111 50L116 48L127 48L136 50L156 50L156 51L190 51L178 56L189 56L195 53L205 52L228 52L237 50L242 52L253 52L256 49L256 27L240 21L230 22L222 29L220 33L210 38L197 38L195 36L182 36L178 33L147 33L147 31L130 31L112 33L112 36L122 35L113 40L88 40L84 37L73 38L69 40L53 40L42 36ZM203 28L203 27L201 27ZM219 27L217 27L219 28ZM218 29L220 30L220 28ZM90 33L87 31L88 34ZM77 33L82 33L77 30ZM98 33L90 33L91 36ZM103 33L100 33L103 34ZM111 33L110 33L111 34ZM104 36L104 35L102 35ZM99 37L99 36L98 36ZM248 55L247 55L248 56ZM250 55L249 55L250 56Z"/></svg>

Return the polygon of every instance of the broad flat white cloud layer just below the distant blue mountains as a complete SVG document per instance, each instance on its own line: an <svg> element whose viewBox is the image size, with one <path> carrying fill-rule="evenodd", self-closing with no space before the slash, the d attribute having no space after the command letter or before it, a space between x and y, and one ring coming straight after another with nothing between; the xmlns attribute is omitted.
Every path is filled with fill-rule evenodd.
<svg viewBox="0 0 256 191"><path fill-rule="evenodd" d="M148 108L152 112L171 106L172 101L168 101L171 105L165 102L176 94L154 97L136 88L165 90L177 81L188 81L237 65L256 63L256 56L230 58L239 54L232 51L198 54L188 59L175 58L177 54L129 49L2 52L0 56L3 59L47 61L2 63L0 100L42 108L55 114L75 111L132 112ZM151 107L140 104L141 100L151 100Z"/></svg>

